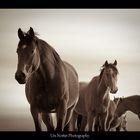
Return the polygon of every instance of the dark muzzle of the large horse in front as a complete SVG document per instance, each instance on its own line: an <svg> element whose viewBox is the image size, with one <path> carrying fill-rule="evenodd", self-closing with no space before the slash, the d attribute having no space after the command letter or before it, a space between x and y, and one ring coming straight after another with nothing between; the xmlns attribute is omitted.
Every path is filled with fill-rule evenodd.
<svg viewBox="0 0 140 140"><path fill-rule="evenodd" d="M15 79L18 81L19 84L25 84L26 83L26 76L23 72L16 72L15 73Z"/></svg>

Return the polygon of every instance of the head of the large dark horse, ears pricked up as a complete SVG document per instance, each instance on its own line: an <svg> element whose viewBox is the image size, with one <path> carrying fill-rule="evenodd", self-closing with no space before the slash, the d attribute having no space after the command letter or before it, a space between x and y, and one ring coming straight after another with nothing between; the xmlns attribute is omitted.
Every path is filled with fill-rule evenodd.
<svg viewBox="0 0 140 140"><path fill-rule="evenodd" d="M38 69L40 64L37 38L34 30L30 27L27 33L18 29L19 43L17 48L18 65L15 79L19 84L25 84L28 77Z"/></svg>

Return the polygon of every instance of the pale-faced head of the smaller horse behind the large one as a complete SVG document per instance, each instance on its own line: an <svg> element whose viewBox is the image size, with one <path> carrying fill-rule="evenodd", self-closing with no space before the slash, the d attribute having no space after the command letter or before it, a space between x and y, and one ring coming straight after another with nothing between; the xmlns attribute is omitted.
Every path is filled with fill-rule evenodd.
<svg viewBox="0 0 140 140"><path fill-rule="evenodd" d="M103 65L103 72L104 72L104 78L106 86L109 87L111 90L111 93L116 93L118 91L117 87L117 75L118 70L116 68L117 61L115 60L114 63L108 63L108 61L105 61Z"/></svg>

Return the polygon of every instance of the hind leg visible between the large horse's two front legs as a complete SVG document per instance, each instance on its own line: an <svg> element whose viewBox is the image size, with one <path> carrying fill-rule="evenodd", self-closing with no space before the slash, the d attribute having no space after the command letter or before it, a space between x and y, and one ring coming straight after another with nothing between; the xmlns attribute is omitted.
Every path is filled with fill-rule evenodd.
<svg viewBox="0 0 140 140"><path fill-rule="evenodd" d="M45 123L47 130L48 131L53 131L54 130L54 125L53 125L53 118L51 114L49 113L42 113L42 119L43 122Z"/></svg>

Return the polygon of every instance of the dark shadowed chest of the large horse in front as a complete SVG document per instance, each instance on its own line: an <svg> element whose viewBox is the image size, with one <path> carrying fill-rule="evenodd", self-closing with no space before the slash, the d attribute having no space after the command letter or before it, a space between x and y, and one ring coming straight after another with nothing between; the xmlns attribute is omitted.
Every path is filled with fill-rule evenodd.
<svg viewBox="0 0 140 140"><path fill-rule="evenodd" d="M27 85L27 98L29 102L35 104L41 111L52 112L52 110L57 109L61 98L59 88L54 86L54 84L44 84L41 79L32 77L31 80Z"/></svg>

